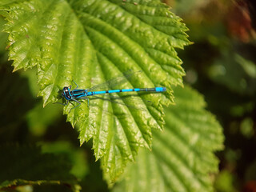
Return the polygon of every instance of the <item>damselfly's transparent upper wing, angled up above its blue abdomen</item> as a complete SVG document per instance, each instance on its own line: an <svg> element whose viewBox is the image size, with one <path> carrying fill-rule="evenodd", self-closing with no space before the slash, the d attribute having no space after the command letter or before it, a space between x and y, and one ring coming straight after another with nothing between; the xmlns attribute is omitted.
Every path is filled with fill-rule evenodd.
<svg viewBox="0 0 256 192"><path fill-rule="evenodd" d="M88 91L95 91L95 90L109 90L114 89L115 86L121 85L122 83L128 82L131 77L135 77L138 74L141 74L142 70L138 70L134 72L133 70L128 70L122 75L112 78L102 84L98 84L97 86L93 86Z"/></svg>

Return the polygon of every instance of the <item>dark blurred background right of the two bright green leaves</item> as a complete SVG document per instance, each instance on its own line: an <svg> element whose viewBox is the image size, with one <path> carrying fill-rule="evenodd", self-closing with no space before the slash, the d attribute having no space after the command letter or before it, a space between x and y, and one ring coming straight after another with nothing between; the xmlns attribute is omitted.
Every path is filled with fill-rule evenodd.
<svg viewBox="0 0 256 192"><path fill-rule="evenodd" d="M166 0L190 29L178 51L184 82L204 95L222 124L216 191L256 191L256 2Z"/></svg>

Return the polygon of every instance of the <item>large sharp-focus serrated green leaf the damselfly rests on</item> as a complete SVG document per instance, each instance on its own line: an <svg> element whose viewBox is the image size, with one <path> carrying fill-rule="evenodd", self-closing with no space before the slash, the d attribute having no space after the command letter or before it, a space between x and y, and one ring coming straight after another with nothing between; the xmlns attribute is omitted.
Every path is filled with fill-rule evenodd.
<svg viewBox="0 0 256 192"><path fill-rule="evenodd" d="M79 139L94 139L96 160L112 181L138 147L151 148L151 129L162 130L162 105L173 103L172 85L182 86L185 74L174 48L189 44L186 26L170 8L156 0L30 0L0 4L8 21L10 59L14 70L37 66L44 105L57 102L58 92L72 80L89 88L127 70L142 70L122 88L166 86L165 94L142 95L127 108L101 99L71 110L67 121L78 125ZM73 85L74 86L74 85ZM151 106L146 106L150 100ZM121 101L127 104L126 101ZM129 104L129 103L128 103ZM69 113L70 112L70 113Z"/></svg>

